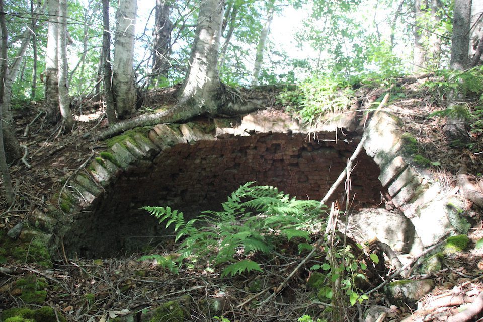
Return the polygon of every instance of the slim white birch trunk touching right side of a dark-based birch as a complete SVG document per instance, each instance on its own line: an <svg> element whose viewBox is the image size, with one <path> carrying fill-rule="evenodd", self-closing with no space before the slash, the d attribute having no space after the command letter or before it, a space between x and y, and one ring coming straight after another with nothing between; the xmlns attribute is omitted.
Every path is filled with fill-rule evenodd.
<svg viewBox="0 0 483 322"><path fill-rule="evenodd" d="M59 62L59 109L62 116L64 131L69 133L74 126L74 119L70 111L69 88L67 84L67 0L60 0L59 29L58 29L58 62Z"/></svg>

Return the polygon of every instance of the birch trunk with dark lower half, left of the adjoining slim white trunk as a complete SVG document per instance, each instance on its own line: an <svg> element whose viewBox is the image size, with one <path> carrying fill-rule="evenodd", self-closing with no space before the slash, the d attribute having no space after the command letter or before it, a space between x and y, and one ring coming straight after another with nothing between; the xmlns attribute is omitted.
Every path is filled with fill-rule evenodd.
<svg viewBox="0 0 483 322"><path fill-rule="evenodd" d="M59 38L59 0L48 0L49 23L47 31L47 49L45 52L45 103L47 106L46 120L50 124L59 120L59 63L58 63L58 38Z"/></svg>

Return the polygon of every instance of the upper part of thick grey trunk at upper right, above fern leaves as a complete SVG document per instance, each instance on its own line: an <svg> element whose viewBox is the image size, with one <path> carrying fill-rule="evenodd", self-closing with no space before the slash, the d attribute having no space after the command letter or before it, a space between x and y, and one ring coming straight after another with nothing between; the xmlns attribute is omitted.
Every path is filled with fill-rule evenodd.
<svg viewBox="0 0 483 322"><path fill-rule="evenodd" d="M470 20L471 0L455 0L449 63L453 70L464 70L468 67Z"/></svg>

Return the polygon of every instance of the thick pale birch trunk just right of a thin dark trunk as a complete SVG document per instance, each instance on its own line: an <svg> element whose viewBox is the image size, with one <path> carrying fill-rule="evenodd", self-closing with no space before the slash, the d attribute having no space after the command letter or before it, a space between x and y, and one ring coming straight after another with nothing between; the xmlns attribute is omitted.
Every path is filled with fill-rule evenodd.
<svg viewBox="0 0 483 322"><path fill-rule="evenodd" d="M112 85L117 116L122 119L136 109L133 62L137 4L136 0L119 0L118 4Z"/></svg>

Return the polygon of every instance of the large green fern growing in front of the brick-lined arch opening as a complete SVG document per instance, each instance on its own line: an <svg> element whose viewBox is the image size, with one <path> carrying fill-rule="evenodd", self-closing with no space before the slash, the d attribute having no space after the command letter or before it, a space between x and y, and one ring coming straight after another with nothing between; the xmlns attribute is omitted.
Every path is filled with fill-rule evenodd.
<svg viewBox="0 0 483 322"><path fill-rule="evenodd" d="M178 250L181 255L169 264L155 255L152 258L172 270L174 262L195 263L207 257L209 265L227 265L223 276L260 271L260 265L247 258L250 254L270 253L280 240L310 241L307 229L324 213L318 201L296 200L275 187L253 186L253 182L234 191L222 208L186 221L182 212L170 207L143 207L174 229L175 240L183 238Z"/></svg>

